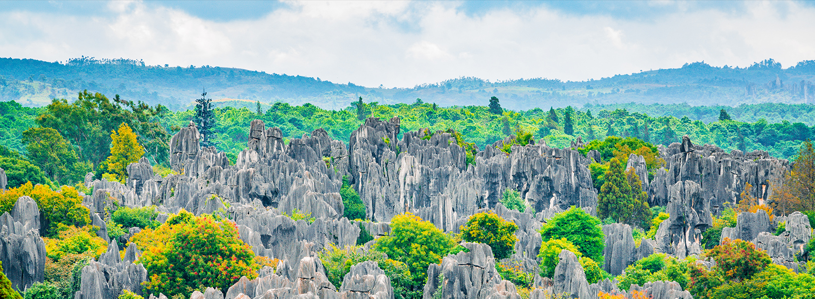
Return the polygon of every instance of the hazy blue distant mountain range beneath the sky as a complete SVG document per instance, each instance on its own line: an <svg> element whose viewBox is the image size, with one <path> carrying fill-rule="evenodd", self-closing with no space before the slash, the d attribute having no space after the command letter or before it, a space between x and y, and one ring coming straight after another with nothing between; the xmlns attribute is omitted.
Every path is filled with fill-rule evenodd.
<svg viewBox="0 0 815 299"><path fill-rule="evenodd" d="M815 103L813 80L815 60L782 68L780 63L767 59L743 68L685 63L680 68L600 80L535 78L490 82L462 77L412 89L380 89L230 67L147 66L126 58L82 57L67 63L0 58L0 101L14 100L25 106L43 106L51 98L72 99L83 89L160 103L173 110L188 108L204 89L209 98L229 99L225 101L231 103L239 99L247 106L251 102L295 105L311 102L324 109L345 108L359 97L381 104L415 102L421 98L440 106L471 106L486 105L492 96L500 99L501 106L512 110L630 102L738 106L759 102Z"/></svg>

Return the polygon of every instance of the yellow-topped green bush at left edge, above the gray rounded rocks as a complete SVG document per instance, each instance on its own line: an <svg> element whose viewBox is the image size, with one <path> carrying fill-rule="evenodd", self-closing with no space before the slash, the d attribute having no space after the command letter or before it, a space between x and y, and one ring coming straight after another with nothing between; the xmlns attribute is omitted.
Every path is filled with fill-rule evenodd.
<svg viewBox="0 0 815 299"><path fill-rule="evenodd" d="M82 227L90 223L90 211L82 206L82 198L77 189L62 186L59 192L47 185L32 185L30 182L18 188L0 190L0 214L10 212L20 197L29 196L40 209L40 235L56 236L59 224Z"/></svg>

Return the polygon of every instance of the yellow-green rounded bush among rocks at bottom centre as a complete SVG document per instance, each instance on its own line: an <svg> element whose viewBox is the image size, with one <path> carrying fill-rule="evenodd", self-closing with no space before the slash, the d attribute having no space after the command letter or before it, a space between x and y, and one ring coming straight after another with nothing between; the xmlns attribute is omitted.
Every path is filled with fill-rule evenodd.
<svg viewBox="0 0 815 299"><path fill-rule="evenodd" d="M425 283L427 266L441 262L454 247L456 243L433 223L410 213L394 216L390 236L381 236L374 245L388 257L404 262L416 285Z"/></svg>

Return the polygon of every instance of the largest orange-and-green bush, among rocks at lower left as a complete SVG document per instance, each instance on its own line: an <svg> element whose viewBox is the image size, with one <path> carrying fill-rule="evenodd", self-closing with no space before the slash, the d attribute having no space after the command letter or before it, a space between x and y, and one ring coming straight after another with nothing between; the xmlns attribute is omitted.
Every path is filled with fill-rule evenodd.
<svg viewBox="0 0 815 299"><path fill-rule="evenodd" d="M148 269L145 289L168 297L186 296L202 286L227 289L245 275L257 276L254 254L238 238L235 223L218 222L211 215L196 217L181 210L156 229L134 235Z"/></svg>

